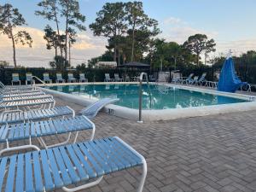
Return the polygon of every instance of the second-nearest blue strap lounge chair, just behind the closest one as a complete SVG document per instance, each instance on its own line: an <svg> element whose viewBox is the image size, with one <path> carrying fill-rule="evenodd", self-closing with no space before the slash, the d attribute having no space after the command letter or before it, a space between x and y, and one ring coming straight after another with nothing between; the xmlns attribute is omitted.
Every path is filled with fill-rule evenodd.
<svg viewBox="0 0 256 192"><path fill-rule="evenodd" d="M0 143L6 143L6 145L4 145L3 149L0 150L0 156L9 151L16 151L25 148L34 148L39 150L37 145L32 144L32 138L37 138L38 142L44 148L52 148L67 144L70 141L71 133L76 132L76 136L73 139L73 143L76 143L79 131L84 130L91 130L90 140L92 140L95 134L95 125L85 116L2 125L0 128ZM57 136L65 133L68 133L68 136L67 140L63 143L47 145L44 142L43 137L45 136ZM9 147L9 143L26 139L29 140L28 145L20 145L20 143L17 143L18 146L12 145L12 147Z"/></svg>

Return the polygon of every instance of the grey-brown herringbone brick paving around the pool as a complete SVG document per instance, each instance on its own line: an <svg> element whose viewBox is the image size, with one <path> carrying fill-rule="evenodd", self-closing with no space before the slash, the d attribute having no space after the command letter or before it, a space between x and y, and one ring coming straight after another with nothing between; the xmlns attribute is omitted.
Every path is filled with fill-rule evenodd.
<svg viewBox="0 0 256 192"><path fill-rule="evenodd" d="M55 98L57 105L81 107ZM256 191L256 111L135 121L99 113L96 138L118 136L146 158L144 192ZM88 139L85 132L79 141ZM49 138L49 142L53 142ZM57 142L57 141L55 141ZM85 192L136 191L140 168L113 173ZM57 190L62 191L62 190Z"/></svg>

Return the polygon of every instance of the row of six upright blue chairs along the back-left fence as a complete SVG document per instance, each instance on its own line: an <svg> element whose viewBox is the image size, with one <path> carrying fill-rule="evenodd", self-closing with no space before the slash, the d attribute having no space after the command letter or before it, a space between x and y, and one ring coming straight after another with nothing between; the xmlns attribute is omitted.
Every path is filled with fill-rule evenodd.
<svg viewBox="0 0 256 192"><path fill-rule="evenodd" d="M43 74L43 80L45 83L53 83L52 79L49 78L49 73L44 73ZM63 79L61 73L56 73L56 83L65 83L66 80ZM79 79L75 79L73 77L73 73L67 73L67 82L68 83L77 83L77 82L88 82L88 79L85 78L84 73L79 73ZM26 85L27 84L32 84L33 79L32 79L32 73L26 73ZM19 73L13 73L12 74L12 85L14 84L20 84L20 76Z"/></svg>

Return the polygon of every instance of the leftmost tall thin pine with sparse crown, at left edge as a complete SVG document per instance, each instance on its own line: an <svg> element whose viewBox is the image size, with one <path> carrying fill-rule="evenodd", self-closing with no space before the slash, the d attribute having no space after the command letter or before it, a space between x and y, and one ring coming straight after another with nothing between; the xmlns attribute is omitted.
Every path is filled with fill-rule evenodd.
<svg viewBox="0 0 256 192"><path fill-rule="evenodd" d="M32 38L26 31L14 32L16 26L26 25L26 20L20 14L18 9L13 8L9 3L0 6L0 34L3 33L12 40L14 52L14 64L17 67L15 44L28 44L32 47Z"/></svg>

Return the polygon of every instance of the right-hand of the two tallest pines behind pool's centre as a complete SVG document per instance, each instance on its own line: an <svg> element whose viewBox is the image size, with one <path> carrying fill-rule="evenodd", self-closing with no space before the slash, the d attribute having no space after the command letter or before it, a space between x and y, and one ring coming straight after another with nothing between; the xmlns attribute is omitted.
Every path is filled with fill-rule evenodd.
<svg viewBox="0 0 256 192"><path fill-rule="evenodd" d="M160 31L157 28L157 20L148 18L148 15L144 13L143 2L129 2L125 4L125 9L128 13L127 20L131 26L132 39L131 39L131 61L134 60L134 47L135 47L135 35L136 31L148 30L153 27L153 31L158 34Z"/></svg>

